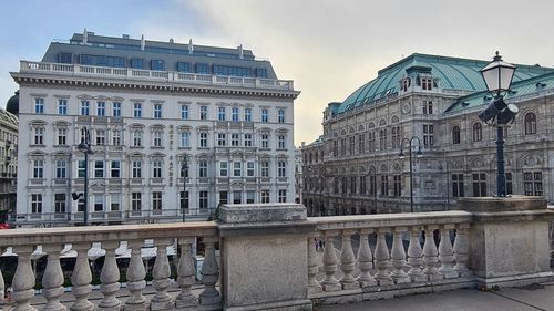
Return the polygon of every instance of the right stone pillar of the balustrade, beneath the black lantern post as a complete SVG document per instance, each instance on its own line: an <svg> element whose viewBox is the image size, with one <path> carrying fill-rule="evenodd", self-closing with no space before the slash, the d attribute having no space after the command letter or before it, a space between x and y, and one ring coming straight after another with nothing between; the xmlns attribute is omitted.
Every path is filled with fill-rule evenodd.
<svg viewBox="0 0 554 311"><path fill-rule="evenodd" d="M478 283L514 287L553 279L548 224L554 211L544 198L466 197L459 206L473 215L468 266Z"/></svg>

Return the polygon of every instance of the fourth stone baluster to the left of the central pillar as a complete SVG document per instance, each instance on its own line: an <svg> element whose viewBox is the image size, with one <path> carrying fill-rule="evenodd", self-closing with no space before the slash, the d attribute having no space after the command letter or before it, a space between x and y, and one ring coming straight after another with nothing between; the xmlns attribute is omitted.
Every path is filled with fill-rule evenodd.
<svg viewBox="0 0 554 311"><path fill-rule="evenodd" d="M129 261L127 268L127 290L129 299L125 301L125 311L144 311L147 310L146 299L142 294L142 290L146 287L146 270L144 269L144 263L142 262L142 251L143 240L131 240L127 241L127 247L131 248L131 260Z"/></svg>

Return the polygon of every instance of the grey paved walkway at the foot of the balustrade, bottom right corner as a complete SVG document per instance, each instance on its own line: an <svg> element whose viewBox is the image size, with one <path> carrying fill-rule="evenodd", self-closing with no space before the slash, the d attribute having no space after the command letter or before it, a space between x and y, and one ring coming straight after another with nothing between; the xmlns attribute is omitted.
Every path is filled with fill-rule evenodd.
<svg viewBox="0 0 554 311"><path fill-rule="evenodd" d="M316 311L554 311L554 282L499 291L456 290L317 307Z"/></svg>

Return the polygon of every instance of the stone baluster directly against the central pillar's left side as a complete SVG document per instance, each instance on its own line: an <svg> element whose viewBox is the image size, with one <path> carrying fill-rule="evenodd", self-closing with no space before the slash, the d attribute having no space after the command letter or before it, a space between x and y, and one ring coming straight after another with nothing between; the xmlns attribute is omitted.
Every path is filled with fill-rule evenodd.
<svg viewBox="0 0 554 311"><path fill-rule="evenodd" d="M206 253L204 263L202 263L202 283L204 284L204 290L202 291L199 297L201 304L218 304L222 302L222 297L215 289L215 284L219 279L219 267L215 258L214 248L214 243L217 241L217 237L204 238L204 243L206 245Z"/></svg>

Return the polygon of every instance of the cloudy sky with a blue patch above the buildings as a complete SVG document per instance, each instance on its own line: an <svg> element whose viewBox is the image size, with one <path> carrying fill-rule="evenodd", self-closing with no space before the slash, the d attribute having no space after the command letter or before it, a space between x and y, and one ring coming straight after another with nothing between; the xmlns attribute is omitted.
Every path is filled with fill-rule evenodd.
<svg viewBox="0 0 554 311"><path fill-rule="evenodd" d="M327 103L412 53L554 66L554 1L486 0L19 0L0 12L0 106L18 89L9 72L52 40L86 28L103 35L243 44L301 91L295 144L321 134Z"/></svg>

